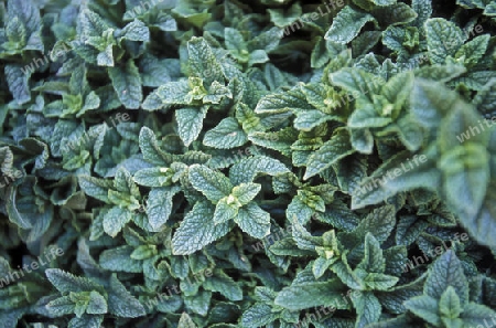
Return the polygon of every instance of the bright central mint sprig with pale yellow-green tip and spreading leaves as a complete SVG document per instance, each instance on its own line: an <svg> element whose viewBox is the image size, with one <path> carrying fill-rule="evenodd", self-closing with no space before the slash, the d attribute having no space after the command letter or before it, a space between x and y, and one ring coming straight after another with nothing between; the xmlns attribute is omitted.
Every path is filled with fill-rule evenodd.
<svg viewBox="0 0 496 328"><path fill-rule="evenodd" d="M288 172L276 159L251 157L231 167L229 178L206 166L188 169L190 183L205 197L186 214L172 240L174 254L191 254L226 235L236 223L244 232L261 239L269 233L270 215L252 199L260 184L258 173L270 176Z"/></svg>

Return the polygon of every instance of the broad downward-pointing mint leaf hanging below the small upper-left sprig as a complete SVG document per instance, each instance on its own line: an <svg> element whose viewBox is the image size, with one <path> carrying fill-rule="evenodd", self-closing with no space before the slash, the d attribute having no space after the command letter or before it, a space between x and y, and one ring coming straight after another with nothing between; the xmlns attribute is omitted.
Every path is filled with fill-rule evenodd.
<svg viewBox="0 0 496 328"><path fill-rule="evenodd" d="M129 60L125 67L109 67L108 74L122 105L130 109L138 109L143 99L143 93L140 73L134 62Z"/></svg>

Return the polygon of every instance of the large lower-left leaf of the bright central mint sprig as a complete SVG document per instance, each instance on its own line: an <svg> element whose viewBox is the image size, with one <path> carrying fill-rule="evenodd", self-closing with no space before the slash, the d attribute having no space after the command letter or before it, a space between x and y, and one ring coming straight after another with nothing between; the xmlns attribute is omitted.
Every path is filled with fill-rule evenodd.
<svg viewBox="0 0 496 328"><path fill-rule="evenodd" d="M213 218L212 204L195 203L172 237L172 253L174 255L193 254L225 236L230 231L231 224L214 224Z"/></svg>

